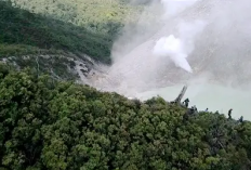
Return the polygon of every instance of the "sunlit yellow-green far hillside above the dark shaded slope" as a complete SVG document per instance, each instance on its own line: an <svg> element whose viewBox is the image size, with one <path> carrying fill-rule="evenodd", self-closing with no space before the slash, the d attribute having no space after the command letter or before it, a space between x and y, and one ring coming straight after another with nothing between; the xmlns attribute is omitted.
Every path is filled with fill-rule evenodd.
<svg viewBox="0 0 251 170"><path fill-rule="evenodd" d="M114 37L142 9L129 0L12 0L15 6Z"/></svg>

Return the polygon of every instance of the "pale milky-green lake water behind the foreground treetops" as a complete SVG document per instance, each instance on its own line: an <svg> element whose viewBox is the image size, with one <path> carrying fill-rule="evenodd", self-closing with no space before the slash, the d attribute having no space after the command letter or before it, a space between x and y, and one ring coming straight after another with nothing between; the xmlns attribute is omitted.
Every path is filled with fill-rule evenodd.
<svg viewBox="0 0 251 170"><path fill-rule="evenodd" d="M141 93L137 97L147 100L160 95L167 101L173 101L182 88L183 84L161 88ZM251 120L251 90L242 91L217 84L196 84L188 86L183 101L186 97L190 101L189 106L196 105L199 110L204 110L208 107L210 112L219 110L227 115L228 109L233 108L233 118L239 118L242 115L246 120Z"/></svg>

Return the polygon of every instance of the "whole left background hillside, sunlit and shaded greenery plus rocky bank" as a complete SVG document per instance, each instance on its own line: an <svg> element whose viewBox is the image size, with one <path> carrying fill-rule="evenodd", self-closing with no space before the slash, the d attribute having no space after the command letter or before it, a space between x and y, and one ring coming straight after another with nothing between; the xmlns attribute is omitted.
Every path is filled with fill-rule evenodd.
<svg viewBox="0 0 251 170"><path fill-rule="evenodd" d="M113 40L124 16L136 12L114 2L1 0L0 60L58 79L83 80L100 69L95 63L110 64Z"/></svg>

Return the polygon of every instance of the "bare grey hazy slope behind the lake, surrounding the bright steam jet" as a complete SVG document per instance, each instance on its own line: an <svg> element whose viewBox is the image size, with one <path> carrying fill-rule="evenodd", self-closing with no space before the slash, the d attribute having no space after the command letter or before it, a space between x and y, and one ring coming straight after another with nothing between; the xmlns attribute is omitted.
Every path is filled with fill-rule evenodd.
<svg viewBox="0 0 251 170"><path fill-rule="evenodd" d="M118 48L116 62L107 71L107 77L113 80L106 84L107 89L117 88L123 94L129 91L135 93L173 83L187 83L200 77L208 82L232 84L235 88L250 86L251 25L247 21L250 19L251 13L246 8L250 4L248 0L241 3L234 0L228 0L227 3L202 0L175 15L164 17L164 24L160 25L153 36L127 51L122 57L120 55L124 53L123 49ZM236 14L233 14L233 11L236 11ZM161 16L159 15L160 18ZM204 23L204 27L194 38L193 35L196 35L198 29L194 23L198 21ZM154 21L151 25L155 24ZM141 37L140 34L130 36ZM170 62L170 56L158 57L153 53L156 42L170 35L180 38L182 42L186 38L189 39L187 44L191 44L191 50L187 53L187 61L193 74L175 66L175 63ZM120 47L133 43L127 36L123 37L126 42ZM101 81L100 86L104 86L103 82Z"/></svg>

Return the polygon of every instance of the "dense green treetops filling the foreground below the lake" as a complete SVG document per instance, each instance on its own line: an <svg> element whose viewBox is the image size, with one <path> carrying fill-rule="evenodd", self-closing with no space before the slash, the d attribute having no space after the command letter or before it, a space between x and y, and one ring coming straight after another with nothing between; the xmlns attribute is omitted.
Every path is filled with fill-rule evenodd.
<svg viewBox="0 0 251 170"><path fill-rule="evenodd" d="M251 123L0 66L0 167L245 170Z"/></svg>

